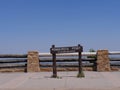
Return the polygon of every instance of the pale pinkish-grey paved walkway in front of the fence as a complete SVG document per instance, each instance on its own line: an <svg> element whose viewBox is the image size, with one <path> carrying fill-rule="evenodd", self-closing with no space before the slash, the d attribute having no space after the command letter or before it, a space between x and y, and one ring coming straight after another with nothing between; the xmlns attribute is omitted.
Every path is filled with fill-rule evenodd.
<svg viewBox="0 0 120 90"><path fill-rule="evenodd" d="M120 90L120 72L84 72L85 78L77 78L77 72L0 73L0 90Z"/></svg>

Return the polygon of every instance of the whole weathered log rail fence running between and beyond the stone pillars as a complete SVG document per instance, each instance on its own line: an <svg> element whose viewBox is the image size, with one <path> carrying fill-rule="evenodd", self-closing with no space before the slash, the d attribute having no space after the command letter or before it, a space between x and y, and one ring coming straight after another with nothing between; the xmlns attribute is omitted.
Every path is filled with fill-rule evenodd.
<svg viewBox="0 0 120 90"><path fill-rule="evenodd" d="M22 69L26 71L27 68L27 54L23 55L0 55L0 71L2 69ZM78 67L78 53L57 54L58 68L77 68ZM97 52L82 52L83 68L97 67ZM52 55L50 53L39 53L40 68L52 68ZM111 67L120 68L120 52L109 52L109 60ZM14 71L14 70L13 70ZM18 70L19 71L19 70Z"/></svg>

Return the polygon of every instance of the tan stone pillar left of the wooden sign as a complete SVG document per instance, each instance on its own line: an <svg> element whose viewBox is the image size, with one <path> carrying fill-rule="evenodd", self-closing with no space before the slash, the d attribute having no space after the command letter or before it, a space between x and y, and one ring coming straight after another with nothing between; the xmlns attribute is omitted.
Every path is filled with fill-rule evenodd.
<svg viewBox="0 0 120 90"><path fill-rule="evenodd" d="M29 51L27 56L27 72L39 72L39 53L37 51Z"/></svg>

